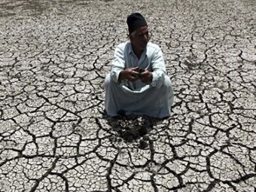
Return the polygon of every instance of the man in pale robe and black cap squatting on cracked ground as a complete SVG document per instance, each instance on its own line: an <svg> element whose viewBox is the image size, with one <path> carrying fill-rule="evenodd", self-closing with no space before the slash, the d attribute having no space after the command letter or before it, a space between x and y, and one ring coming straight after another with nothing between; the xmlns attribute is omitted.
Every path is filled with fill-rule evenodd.
<svg viewBox="0 0 256 192"><path fill-rule="evenodd" d="M130 41L119 44L114 52L111 72L105 78L105 109L111 117L169 117L173 90L163 53L157 44L148 42L148 24L141 14L131 14L126 22Z"/></svg>

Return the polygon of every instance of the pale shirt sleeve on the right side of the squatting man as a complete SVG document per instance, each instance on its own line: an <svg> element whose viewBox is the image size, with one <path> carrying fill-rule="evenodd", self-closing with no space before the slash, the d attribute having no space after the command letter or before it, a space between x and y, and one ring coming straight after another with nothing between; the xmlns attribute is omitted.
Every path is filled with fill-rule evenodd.
<svg viewBox="0 0 256 192"><path fill-rule="evenodd" d="M164 64L163 53L160 48L156 50L156 53L151 61L151 66L153 69L153 79L151 85L152 87L161 87L166 74L166 66Z"/></svg>

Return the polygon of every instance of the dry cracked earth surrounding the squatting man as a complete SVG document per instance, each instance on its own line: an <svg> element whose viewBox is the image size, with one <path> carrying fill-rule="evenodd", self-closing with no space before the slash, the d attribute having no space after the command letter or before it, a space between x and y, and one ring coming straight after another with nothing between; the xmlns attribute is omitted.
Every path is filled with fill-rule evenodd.
<svg viewBox="0 0 256 192"><path fill-rule="evenodd" d="M103 82L139 11L172 117L110 119ZM254 0L1 0L0 191L256 191Z"/></svg>

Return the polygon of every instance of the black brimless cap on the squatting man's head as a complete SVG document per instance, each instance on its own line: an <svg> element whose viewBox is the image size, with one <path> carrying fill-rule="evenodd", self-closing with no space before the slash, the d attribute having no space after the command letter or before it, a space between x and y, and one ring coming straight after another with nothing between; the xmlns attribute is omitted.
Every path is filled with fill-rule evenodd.
<svg viewBox="0 0 256 192"><path fill-rule="evenodd" d="M148 26L145 18L139 13L130 14L130 16L127 17L126 22L128 25L129 34L136 31L136 29L139 29L141 26Z"/></svg>

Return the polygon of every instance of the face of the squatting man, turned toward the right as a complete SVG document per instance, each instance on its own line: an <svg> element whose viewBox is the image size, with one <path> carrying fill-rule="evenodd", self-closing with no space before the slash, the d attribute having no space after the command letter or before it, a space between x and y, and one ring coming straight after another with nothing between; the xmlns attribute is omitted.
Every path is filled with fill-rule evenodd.
<svg viewBox="0 0 256 192"><path fill-rule="evenodd" d="M148 26L141 26L134 35L130 35L130 41L137 50L145 50L149 41Z"/></svg>

